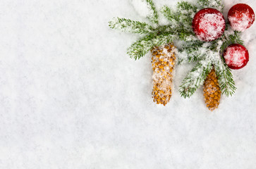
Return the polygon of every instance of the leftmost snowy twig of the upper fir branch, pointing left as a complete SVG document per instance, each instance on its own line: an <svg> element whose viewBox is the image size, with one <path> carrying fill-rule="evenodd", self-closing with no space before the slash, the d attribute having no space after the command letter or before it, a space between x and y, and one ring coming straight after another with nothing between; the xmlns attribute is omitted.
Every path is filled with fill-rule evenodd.
<svg viewBox="0 0 256 169"><path fill-rule="evenodd" d="M121 30L123 32L139 34L148 34L154 32L151 25L126 18L114 18L113 20L109 21L109 27L111 29Z"/></svg>

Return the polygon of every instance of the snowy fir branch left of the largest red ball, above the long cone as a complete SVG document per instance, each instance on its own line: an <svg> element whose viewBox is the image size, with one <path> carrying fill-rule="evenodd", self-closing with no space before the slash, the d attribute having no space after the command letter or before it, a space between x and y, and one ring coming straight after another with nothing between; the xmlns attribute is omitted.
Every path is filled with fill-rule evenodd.
<svg viewBox="0 0 256 169"><path fill-rule="evenodd" d="M144 34L137 42L128 48L130 58L139 59L145 56L154 46L161 46L173 42L175 39L189 39L193 37L193 30L190 29L192 15L195 14L197 7L188 2L181 1L177 5L177 11L164 6L161 13L164 14L168 25L159 25L159 14L156 11L152 0L145 1L150 14L147 18L150 24L126 18L114 18L109 22L109 27L123 32Z"/></svg>

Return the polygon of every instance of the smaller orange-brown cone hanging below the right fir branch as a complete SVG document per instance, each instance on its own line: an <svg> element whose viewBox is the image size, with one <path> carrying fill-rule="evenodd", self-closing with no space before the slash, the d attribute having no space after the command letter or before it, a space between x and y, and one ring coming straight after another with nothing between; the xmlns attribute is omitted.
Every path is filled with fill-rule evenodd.
<svg viewBox="0 0 256 169"><path fill-rule="evenodd" d="M214 111L214 109L218 108L219 100L221 99L221 88L219 87L218 78L214 68L205 80L204 96L205 104L207 104L210 111Z"/></svg>

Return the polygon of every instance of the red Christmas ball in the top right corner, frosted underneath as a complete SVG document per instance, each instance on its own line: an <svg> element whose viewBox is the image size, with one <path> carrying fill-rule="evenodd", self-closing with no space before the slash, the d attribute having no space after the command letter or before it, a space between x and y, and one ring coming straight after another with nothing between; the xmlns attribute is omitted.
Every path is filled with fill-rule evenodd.
<svg viewBox="0 0 256 169"><path fill-rule="evenodd" d="M236 4L228 11L228 21L233 30L243 32L255 21L255 13L247 4Z"/></svg>

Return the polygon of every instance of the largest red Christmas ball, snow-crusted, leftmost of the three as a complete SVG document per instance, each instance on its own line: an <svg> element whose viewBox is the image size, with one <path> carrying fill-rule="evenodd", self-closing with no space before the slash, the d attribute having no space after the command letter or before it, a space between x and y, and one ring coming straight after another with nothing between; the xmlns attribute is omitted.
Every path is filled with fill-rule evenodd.
<svg viewBox="0 0 256 169"><path fill-rule="evenodd" d="M210 42L218 39L223 35L225 27L224 15L214 8L204 8L193 18L193 31L201 41Z"/></svg>

